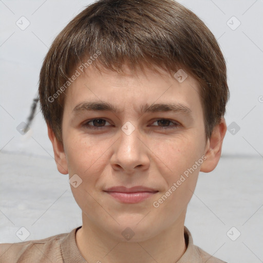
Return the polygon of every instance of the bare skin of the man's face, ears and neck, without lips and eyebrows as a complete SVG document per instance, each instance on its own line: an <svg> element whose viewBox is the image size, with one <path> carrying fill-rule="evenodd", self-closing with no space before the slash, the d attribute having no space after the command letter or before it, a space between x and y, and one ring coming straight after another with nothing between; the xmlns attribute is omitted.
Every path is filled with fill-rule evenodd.
<svg viewBox="0 0 263 263"><path fill-rule="evenodd" d="M179 83L159 71L147 69L145 74L132 75L127 67L126 74L89 67L67 90L63 145L48 127L59 172L82 179L78 187L70 186L82 209L83 225L76 242L88 262L173 263L186 250L183 228L187 204L199 172L208 173L216 167L227 126L222 118L205 143L197 81L189 75ZM87 100L109 102L120 111L74 113L74 107ZM145 103L180 103L192 110L192 118L173 111L142 114L140 106ZM91 119L106 122L100 124L102 128L89 129L83 124ZM171 122L157 122L162 119ZM121 129L127 121L135 128L130 135ZM155 208L153 202L202 156L206 160ZM118 185L143 185L159 192L142 202L127 204L104 192ZM122 235L127 227L135 234L130 240Z"/></svg>

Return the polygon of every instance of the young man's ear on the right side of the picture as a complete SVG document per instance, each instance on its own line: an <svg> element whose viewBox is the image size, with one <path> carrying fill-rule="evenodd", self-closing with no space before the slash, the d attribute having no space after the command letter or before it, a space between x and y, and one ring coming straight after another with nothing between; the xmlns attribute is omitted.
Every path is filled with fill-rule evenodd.
<svg viewBox="0 0 263 263"><path fill-rule="evenodd" d="M219 124L213 129L212 135L205 147L206 160L202 163L200 172L209 173L216 167L220 156L224 135L227 132L227 124L224 118L221 118Z"/></svg>

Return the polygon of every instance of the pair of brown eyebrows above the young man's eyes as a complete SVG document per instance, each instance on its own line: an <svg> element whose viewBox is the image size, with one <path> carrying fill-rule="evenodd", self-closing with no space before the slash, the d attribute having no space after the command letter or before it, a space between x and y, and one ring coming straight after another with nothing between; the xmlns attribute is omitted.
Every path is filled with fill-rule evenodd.
<svg viewBox="0 0 263 263"><path fill-rule="evenodd" d="M108 102L96 102L96 101L87 101L82 102L78 104L74 109L72 110L73 114L78 114L79 112L87 111L87 110L94 110L94 111L102 111L107 110L114 113L120 112L120 110L113 104ZM173 112L182 112L183 114L187 115L190 118L193 118L193 112L189 107L186 107L185 105L181 103L156 103L152 105L148 105L147 103L144 105L141 105L140 107L141 113L146 112L159 112L159 111L173 111Z"/></svg>

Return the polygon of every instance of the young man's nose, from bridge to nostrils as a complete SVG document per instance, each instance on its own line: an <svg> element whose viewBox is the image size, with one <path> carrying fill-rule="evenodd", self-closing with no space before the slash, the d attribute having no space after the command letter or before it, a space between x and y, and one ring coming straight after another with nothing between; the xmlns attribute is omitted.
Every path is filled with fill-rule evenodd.
<svg viewBox="0 0 263 263"><path fill-rule="evenodd" d="M146 137L134 125L132 133L130 133L131 130L126 132L125 128L132 128L130 126L123 125L120 130L120 138L113 145L114 152L110 160L115 171L127 174L147 170L151 159L151 151L147 147Z"/></svg>

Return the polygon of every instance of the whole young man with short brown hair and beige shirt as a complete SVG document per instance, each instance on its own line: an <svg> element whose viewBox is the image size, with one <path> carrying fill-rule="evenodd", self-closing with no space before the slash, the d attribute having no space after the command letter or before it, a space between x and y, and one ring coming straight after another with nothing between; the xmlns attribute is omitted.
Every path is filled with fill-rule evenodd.
<svg viewBox="0 0 263 263"><path fill-rule="evenodd" d="M82 209L70 233L2 244L1 262L223 262L184 219L220 154L229 91L215 37L172 0L101 0L43 63L39 98Z"/></svg>

